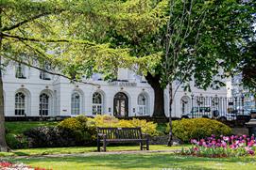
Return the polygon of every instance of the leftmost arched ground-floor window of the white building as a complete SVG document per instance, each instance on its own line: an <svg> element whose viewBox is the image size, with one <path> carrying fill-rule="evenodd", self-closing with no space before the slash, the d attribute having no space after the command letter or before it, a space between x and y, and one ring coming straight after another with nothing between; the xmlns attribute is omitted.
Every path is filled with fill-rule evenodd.
<svg viewBox="0 0 256 170"><path fill-rule="evenodd" d="M15 116L25 116L25 98L26 96L22 92L19 92L15 95Z"/></svg>

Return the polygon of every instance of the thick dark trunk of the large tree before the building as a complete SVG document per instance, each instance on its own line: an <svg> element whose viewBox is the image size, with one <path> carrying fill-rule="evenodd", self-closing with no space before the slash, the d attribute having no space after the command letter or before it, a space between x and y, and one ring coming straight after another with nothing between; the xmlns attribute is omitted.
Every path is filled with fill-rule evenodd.
<svg viewBox="0 0 256 170"><path fill-rule="evenodd" d="M160 84L160 76L155 75L153 76L149 72L145 76L145 79L149 85L154 90L154 117L166 117L164 114L164 89L162 88Z"/></svg>

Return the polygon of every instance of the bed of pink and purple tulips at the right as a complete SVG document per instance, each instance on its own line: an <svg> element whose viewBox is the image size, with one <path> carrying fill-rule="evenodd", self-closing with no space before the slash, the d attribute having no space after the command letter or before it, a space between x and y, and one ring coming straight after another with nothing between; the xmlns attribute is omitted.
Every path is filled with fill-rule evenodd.
<svg viewBox="0 0 256 170"><path fill-rule="evenodd" d="M183 155L193 155L198 157L237 157L254 155L256 150L255 137L247 135L207 137L206 139L192 139L192 147L181 149Z"/></svg>

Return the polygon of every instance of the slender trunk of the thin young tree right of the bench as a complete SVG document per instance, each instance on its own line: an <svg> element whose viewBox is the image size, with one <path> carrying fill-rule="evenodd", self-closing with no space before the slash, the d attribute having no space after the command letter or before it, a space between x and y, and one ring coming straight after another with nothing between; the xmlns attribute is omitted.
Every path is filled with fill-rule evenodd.
<svg viewBox="0 0 256 170"><path fill-rule="evenodd" d="M173 145L173 129L172 129L172 112L173 112L173 86L172 84L169 84L169 126L170 126L170 131L169 131L169 139L168 139L168 143L167 146L171 147Z"/></svg>

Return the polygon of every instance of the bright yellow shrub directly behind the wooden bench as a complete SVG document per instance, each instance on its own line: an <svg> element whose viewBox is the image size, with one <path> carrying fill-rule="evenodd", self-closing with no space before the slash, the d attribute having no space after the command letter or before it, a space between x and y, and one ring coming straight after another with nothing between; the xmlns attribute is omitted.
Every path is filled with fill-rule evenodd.
<svg viewBox="0 0 256 170"><path fill-rule="evenodd" d="M150 136L156 136L159 134L157 131L157 124L153 122L146 122L146 120L140 120L133 118L132 120L119 120L114 116L95 116L90 118L90 121L95 127L115 127L115 128L134 128L141 127L142 131Z"/></svg>

